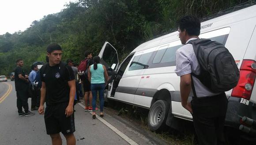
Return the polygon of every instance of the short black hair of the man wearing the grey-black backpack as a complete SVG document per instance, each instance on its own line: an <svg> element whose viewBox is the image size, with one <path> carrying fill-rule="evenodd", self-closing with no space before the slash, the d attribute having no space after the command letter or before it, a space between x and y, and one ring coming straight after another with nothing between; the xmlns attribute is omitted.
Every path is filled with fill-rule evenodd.
<svg viewBox="0 0 256 145"><path fill-rule="evenodd" d="M193 15L187 15L178 22L179 29L183 32L186 30L189 36L199 36L201 23L200 20Z"/></svg>

